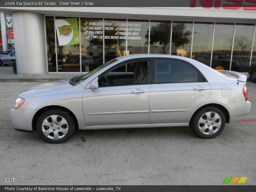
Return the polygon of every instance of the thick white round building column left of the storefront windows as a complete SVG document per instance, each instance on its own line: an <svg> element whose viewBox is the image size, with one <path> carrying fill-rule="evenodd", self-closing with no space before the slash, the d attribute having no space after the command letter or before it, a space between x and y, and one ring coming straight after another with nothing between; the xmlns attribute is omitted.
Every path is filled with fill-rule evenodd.
<svg viewBox="0 0 256 192"><path fill-rule="evenodd" d="M12 13L18 75L42 75L46 70L44 15L32 12Z"/></svg>

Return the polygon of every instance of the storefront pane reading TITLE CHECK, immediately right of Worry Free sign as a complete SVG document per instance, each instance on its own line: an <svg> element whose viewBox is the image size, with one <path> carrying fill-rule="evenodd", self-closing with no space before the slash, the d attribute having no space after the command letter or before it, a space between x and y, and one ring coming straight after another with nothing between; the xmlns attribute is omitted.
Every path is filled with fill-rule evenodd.
<svg viewBox="0 0 256 192"><path fill-rule="evenodd" d="M82 72L103 64L103 19L80 18Z"/></svg>

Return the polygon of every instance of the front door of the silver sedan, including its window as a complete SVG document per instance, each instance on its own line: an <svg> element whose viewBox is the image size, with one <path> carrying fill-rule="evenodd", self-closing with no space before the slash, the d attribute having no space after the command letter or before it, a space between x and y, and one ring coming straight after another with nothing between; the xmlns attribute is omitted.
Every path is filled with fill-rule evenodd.
<svg viewBox="0 0 256 192"><path fill-rule="evenodd" d="M134 63L137 67L128 71ZM141 65L145 65L146 76L143 82L138 82L136 80L144 76L136 70ZM150 70L150 59L145 58L123 62L101 74L98 89L84 90L83 110L87 126L149 124Z"/></svg>

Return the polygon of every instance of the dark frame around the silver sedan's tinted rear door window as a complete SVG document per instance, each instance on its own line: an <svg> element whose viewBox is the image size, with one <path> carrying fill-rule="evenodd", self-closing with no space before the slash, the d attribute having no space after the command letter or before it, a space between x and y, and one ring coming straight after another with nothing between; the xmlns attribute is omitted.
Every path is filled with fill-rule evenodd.
<svg viewBox="0 0 256 192"><path fill-rule="evenodd" d="M156 83L156 60L175 60L175 61L180 61L188 64L192 68L196 70L196 72L201 76L202 81L183 81L183 82L161 82L161 83ZM199 83L199 82L208 82L207 79L204 77L204 75L201 73L201 71L198 70L193 64L191 64L188 61L182 60L182 59L176 59L176 58L163 58L163 57L155 57L153 61L153 68L152 68L152 78L151 78L151 84L174 84L174 83Z"/></svg>

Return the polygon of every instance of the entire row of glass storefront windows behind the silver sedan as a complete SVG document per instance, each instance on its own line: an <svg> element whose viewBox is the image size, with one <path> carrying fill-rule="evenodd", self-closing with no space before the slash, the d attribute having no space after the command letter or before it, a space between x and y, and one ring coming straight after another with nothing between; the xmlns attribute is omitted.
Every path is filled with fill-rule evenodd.
<svg viewBox="0 0 256 192"><path fill-rule="evenodd" d="M63 44L63 39L54 26L60 20L69 19L75 20L77 28L74 28L72 43ZM45 16L45 25L48 72L89 72L101 66L104 61L119 56L148 53L148 48L149 53L170 54L171 47L172 55L191 57L217 70L231 68L246 72L250 59L252 63L256 62L256 40L250 58L254 24L236 23L235 34L234 23L221 22L214 25L213 22L196 21L192 31L192 21L151 20L149 30L149 20L58 16L54 21L54 16ZM115 72L129 72L132 68L124 65Z"/></svg>

